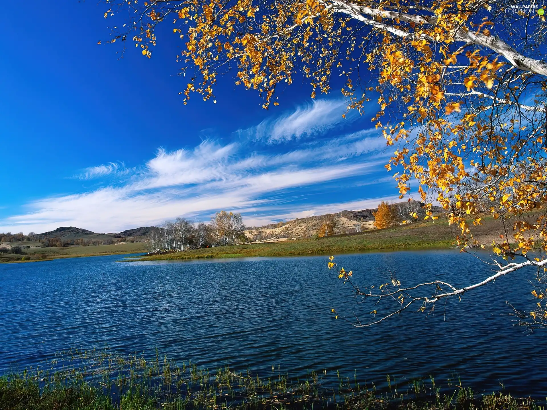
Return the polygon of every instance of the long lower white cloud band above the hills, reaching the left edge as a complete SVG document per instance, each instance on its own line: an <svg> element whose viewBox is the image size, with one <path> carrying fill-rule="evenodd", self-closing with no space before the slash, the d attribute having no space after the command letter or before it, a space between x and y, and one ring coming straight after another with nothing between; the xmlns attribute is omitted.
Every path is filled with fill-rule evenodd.
<svg viewBox="0 0 547 410"><path fill-rule="evenodd" d="M157 157L156 157L157 159ZM161 183L153 175L138 183L108 186L85 194L45 198L30 204L30 212L11 216L0 224L0 231L44 232L59 226L79 226L96 232L119 232L128 227L156 224L178 215L197 216L219 209L259 206L260 196L299 186L363 174L367 165L344 165L296 169L287 167L250 175L225 175L198 186L175 184L178 175L164 175ZM210 168L211 175L218 169ZM147 180L154 184L147 184ZM162 185L161 190L146 186ZM3 226L2 226L3 225Z"/></svg>

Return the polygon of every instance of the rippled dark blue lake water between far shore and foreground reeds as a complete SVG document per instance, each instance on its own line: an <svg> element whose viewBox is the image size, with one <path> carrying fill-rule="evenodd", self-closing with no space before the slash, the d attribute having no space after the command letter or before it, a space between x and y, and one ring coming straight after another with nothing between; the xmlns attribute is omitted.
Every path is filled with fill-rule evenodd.
<svg viewBox="0 0 547 410"><path fill-rule="evenodd" d="M382 386L386 374L404 384L429 374L439 385L461 378L476 391L505 388L547 395L547 333L512 326L505 301L535 302L521 271L434 315L405 313L354 329L337 312L368 319L327 258L252 258L196 262L118 262L120 256L0 265L0 373L51 359L69 348L108 345L119 353L230 364L260 373L274 365L289 376L339 370ZM336 257L360 285L403 285L422 279L474 283L490 267L456 251L405 251ZM446 313L445 313L446 310ZM381 313L381 312L380 312Z"/></svg>

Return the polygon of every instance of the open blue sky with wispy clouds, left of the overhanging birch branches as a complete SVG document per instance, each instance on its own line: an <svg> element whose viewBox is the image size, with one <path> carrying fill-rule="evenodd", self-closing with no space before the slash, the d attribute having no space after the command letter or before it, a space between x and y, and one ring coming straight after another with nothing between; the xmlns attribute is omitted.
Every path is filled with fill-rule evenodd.
<svg viewBox="0 0 547 410"><path fill-rule="evenodd" d="M119 232L220 209L252 226L397 198L385 140L371 115L342 118L340 93L312 100L295 81L264 110L228 75L216 104L184 106L181 40L160 32L152 58L120 59L117 44L97 45L103 8L4 5L0 232Z"/></svg>

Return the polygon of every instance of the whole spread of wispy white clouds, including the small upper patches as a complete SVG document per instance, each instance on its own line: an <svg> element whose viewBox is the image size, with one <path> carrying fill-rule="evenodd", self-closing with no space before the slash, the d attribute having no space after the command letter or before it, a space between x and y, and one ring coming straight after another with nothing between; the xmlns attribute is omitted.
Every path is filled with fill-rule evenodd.
<svg viewBox="0 0 547 410"><path fill-rule="evenodd" d="M269 136L299 138L323 132L333 127L341 114L336 110L342 107L340 102L319 100L297 108L270 120L273 133ZM159 148L137 168L126 168L121 162L89 167L79 174L81 179L121 174L124 178L107 179L108 186L87 192L28 203L19 214L0 220L0 231L45 232L78 226L95 232L120 232L179 215L206 220L219 209L238 210L247 224L254 225L253 220L259 219L269 223L376 206L377 200L317 206L306 204L304 198L301 203L287 203L289 190L363 175L369 175L366 178L370 180L379 178L375 174L385 172L385 155L381 154L385 141L376 130L306 140L290 150L283 151L282 145L274 152L271 148L249 139L229 143L207 139L194 148ZM283 202L286 204L280 207ZM249 219L246 215L256 216Z"/></svg>

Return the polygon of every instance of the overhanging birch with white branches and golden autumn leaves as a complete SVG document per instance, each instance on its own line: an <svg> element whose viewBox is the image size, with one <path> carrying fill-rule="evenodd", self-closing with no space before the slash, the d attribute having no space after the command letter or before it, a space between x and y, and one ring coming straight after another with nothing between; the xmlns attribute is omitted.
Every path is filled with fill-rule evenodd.
<svg viewBox="0 0 547 410"><path fill-rule="evenodd" d="M148 58L158 27L172 27L181 39L184 103L192 95L214 101L217 80L230 72L265 108L278 104L277 87L295 79L310 87L311 98L337 87L348 110L365 113L369 101L377 102L373 121L393 150L386 168L395 173L400 198L412 185L425 204L424 218L438 218L434 201L443 206L459 227L462 250L487 246L499 256L491 276L465 288L444 284L451 290L413 299L427 305L525 267L536 268L538 280L545 274L547 26L540 5L523 4L118 0L107 2L104 17L115 20L110 43L125 40ZM502 232L485 244L473 229L486 216L500 220ZM534 310L515 312L532 327L547 319L542 289L534 289Z"/></svg>

